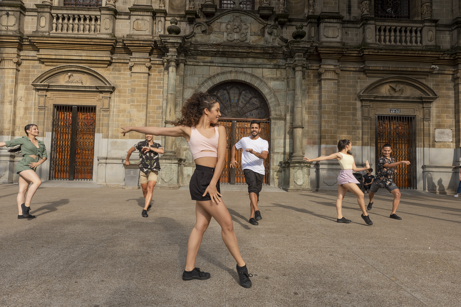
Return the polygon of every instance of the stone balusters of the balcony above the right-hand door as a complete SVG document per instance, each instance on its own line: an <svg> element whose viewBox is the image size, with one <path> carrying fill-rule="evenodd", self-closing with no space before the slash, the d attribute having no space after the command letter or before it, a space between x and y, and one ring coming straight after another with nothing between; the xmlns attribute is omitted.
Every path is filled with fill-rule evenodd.
<svg viewBox="0 0 461 307"><path fill-rule="evenodd" d="M376 25L376 42L382 45L422 46L421 26Z"/></svg>

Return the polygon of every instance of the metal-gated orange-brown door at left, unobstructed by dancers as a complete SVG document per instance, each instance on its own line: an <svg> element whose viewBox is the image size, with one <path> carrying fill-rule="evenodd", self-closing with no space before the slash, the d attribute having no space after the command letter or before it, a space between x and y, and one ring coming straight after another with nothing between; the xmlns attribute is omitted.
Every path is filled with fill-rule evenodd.
<svg viewBox="0 0 461 307"><path fill-rule="evenodd" d="M51 180L93 179L95 119L95 106L54 106Z"/></svg>

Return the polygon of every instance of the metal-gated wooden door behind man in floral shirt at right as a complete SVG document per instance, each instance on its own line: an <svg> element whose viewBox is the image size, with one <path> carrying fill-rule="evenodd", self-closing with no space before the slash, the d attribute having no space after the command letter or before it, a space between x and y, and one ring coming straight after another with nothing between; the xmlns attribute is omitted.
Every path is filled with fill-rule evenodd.
<svg viewBox="0 0 461 307"><path fill-rule="evenodd" d="M376 162L384 144L392 146L391 157L410 161L394 168L394 182L400 189L416 189L416 129L414 116L375 116ZM378 165L378 164L376 164ZM378 171L378 170L376 170Z"/></svg>

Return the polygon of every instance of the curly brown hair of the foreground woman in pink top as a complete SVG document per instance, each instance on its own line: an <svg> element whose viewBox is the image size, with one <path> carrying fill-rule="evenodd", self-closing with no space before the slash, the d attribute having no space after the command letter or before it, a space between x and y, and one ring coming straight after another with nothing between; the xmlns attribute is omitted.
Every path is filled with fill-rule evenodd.
<svg viewBox="0 0 461 307"><path fill-rule="evenodd" d="M176 126L192 127L199 123L200 117L205 109L211 110L218 101L207 92L196 92L187 99L181 109L181 118L177 119ZM211 124L214 127L214 124Z"/></svg>

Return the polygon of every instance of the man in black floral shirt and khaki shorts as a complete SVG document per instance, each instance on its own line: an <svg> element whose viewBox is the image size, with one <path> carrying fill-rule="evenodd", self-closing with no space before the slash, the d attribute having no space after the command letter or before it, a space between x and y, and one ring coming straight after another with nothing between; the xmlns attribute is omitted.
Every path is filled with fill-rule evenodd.
<svg viewBox="0 0 461 307"><path fill-rule="evenodd" d="M144 209L142 210L142 217L148 217L147 210L150 208L150 201L152 200L152 193L154 192L154 186L157 183L157 175L160 171L159 153L163 154L165 151L159 143L155 143L153 140L154 136L146 134L146 139L139 143L136 143L130 148L126 155L125 164L130 164L130 156L133 151L139 151L139 161L141 169L139 175L139 182L142 187L142 194L146 199L144 203Z"/></svg>

